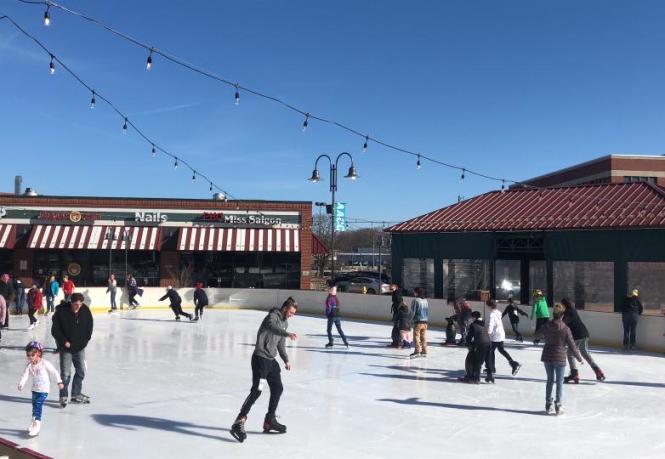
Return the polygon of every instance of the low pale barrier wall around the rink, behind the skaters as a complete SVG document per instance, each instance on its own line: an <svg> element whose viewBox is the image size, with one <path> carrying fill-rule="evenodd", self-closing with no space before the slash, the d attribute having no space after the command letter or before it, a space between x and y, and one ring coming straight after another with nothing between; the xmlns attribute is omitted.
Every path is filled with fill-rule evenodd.
<svg viewBox="0 0 665 459"><path fill-rule="evenodd" d="M118 289L118 306L127 307L127 295L121 294ZM323 303L326 293L313 290L273 290L273 289L233 289L233 288L207 288L210 306L215 309L259 309L268 310L280 306L284 300L292 296L298 301L298 312L312 315L323 315ZM194 308L193 288L177 289L183 299L183 309L190 311ZM85 303L91 305L95 311L109 309L110 296L104 287L90 287L77 289L85 298ZM168 300L162 302L159 298L165 293L162 287L149 287L144 289L142 297L137 297L143 308L167 308ZM388 295L362 295L356 293L338 293L340 299L342 318L373 320L390 322L390 296ZM59 299L58 299L59 300ZM56 300L56 304L58 303ZM404 298L407 305L412 298ZM453 310L445 300L429 298L430 325L445 327L446 317L453 314ZM503 305L499 309L503 310ZM484 303L471 302L474 310L489 314L484 309ZM521 305L525 312L530 312L529 305ZM623 340L623 324L621 314L608 312L594 312L579 310L580 317L586 324L591 335L590 343L594 345L621 347ZM511 335L512 329L508 317L504 318L506 334ZM519 330L524 336L531 336L535 329L535 320L520 317ZM665 348L665 318L660 316L642 316L637 327L637 345L647 351L662 352ZM389 337L390 333L386 334Z"/></svg>

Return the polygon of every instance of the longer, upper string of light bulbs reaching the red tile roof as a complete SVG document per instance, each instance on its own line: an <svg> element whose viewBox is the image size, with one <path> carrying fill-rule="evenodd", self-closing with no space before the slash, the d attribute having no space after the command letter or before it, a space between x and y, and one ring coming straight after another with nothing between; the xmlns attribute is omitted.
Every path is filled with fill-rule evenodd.
<svg viewBox="0 0 665 459"><path fill-rule="evenodd" d="M235 101L236 105L238 105L240 103L240 93L241 92L252 94L254 96L257 96L257 97L260 97L260 98L278 103L278 104L282 105L283 107L287 108L288 110L291 110L293 112L298 113L299 115L301 115L304 118L303 123L302 123L303 132L307 131L308 127L310 126L311 121L318 121L318 122L321 122L321 123L336 126L340 129L346 131L347 133L350 133L352 135L360 137L363 141L363 144L362 144L363 152L367 152L367 150L369 149L369 144L371 142L371 143L375 143L377 145L380 145L382 147L385 147L387 149L397 151L397 152L400 152L400 153L404 153L406 155L410 155L411 157L416 159L416 170L420 170L422 168L422 162L423 161L428 161L428 162L433 163L433 164L437 164L437 165L440 165L440 166L444 166L444 167L462 172L462 179L464 179L465 174L471 174L471 175L475 175L477 177L481 177L481 178L484 178L484 179L487 179L487 180L492 180L492 181L495 181L495 182L501 182L503 188L505 188L506 182L513 183L513 184L516 184L516 185L528 186L528 185L525 185L525 184L523 184L523 183L521 183L517 180L512 180L512 179L507 179L507 178L502 178L502 177L495 177L495 176L492 176L492 175L489 175L489 174L485 174L485 173L470 169L468 167L458 166L458 165L451 164L451 163L448 163L448 162L445 162L445 161L441 161L441 160L439 160L435 157L425 155L421 152L417 152L417 151L414 151L414 150L411 150L411 149L408 149L408 148L393 145L393 144L391 144L387 141L381 140L381 139L376 138L376 137L372 137L369 134L364 133L359 129L348 126L346 123L338 122L338 121L329 119L329 118L321 116L321 115L315 115L312 112L310 112L308 110L298 108L298 107L284 101L283 99L280 99L278 97L271 96L271 95L269 95L267 93L264 93L262 91L259 91L259 90L252 89L252 88L249 88L247 86L241 85L238 82L233 82L228 78L224 78L222 76L219 76L219 75L213 73L212 71L206 70L206 69L204 69L200 66L197 66L195 64L191 64L191 63L187 62L186 60L175 56L174 54L168 53L168 52L163 51L163 50L161 50L157 47L154 47L154 46L149 45L145 42L142 42L141 40L138 40L138 39L132 37L131 35L129 35L125 32L121 32L120 30L118 30L114 27L111 27L110 25L108 25L108 24L106 24L106 23L104 23L104 22L102 22L102 21L100 21L100 20L98 20L98 19L96 19L92 16L86 15L86 14L81 13L79 11L72 10L72 9L70 9L70 8L64 6L64 5L61 5L57 2L54 2L54 1L51 1L51 0L18 0L18 1L21 2L21 3L26 3L26 4L44 6L46 8L45 13L44 13L44 25L45 26L48 26L48 25L51 24L52 18L49 15L49 11L51 11L51 8L55 8L55 9L58 9L60 11L65 12L65 13L76 16L80 19L83 19L85 21L88 21L88 22L90 22L90 23L92 23L92 24L94 24L98 27L101 27L104 30L116 35L117 37L120 37L120 38L128 41L129 43L131 43L135 46L143 48L148 53L148 58L147 58L147 61L146 61L146 70L148 70L148 71L150 71L153 68L153 55L156 55L156 56L160 56L160 57L164 58L165 60L167 60L167 61L169 61L173 64L176 64L176 65L181 66L183 68L186 68L186 69L188 69L188 70L190 70L194 73L197 73L201 76L204 76L204 77L209 78L211 80L217 81L218 83L222 83L224 85L232 87L235 90L234 101Z"/></svg>

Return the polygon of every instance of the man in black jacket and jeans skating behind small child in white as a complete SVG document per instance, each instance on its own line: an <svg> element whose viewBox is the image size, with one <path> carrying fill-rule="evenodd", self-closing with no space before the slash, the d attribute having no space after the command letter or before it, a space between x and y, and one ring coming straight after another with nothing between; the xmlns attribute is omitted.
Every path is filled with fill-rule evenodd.
<svg viewBox="0 0 665 459"><path fill-rule="evenodd" d="M61 302L55 308L51 335L55 339L60 353L60 376L64 387L60 389L60 406L67 406L67 391L74 365L72 382L72 403L90 403L90 397L83 394L85 378L85 347L92 337L92 313L83 304L83 295L73 293L70 302Z"/></svg>

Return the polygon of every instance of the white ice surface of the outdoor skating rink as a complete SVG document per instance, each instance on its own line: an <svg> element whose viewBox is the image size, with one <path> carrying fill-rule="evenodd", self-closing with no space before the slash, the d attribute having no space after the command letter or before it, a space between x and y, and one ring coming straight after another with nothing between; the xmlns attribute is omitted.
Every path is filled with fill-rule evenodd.
<svg viewBox="0 0 665 459"><path fill-rule="evenodd" d="M27 316L12 317L0 348L0 437L67 459L665 457L663 355L593 349L607 380L582 366L555 417L544 414L541 348L509 339L519 374L497 353L497 383L467 385L456 381L466 350L441 346L442 330L429 332L426 359L409 360L410 351L385 347L386 324L343 321L351 348L337 339L326 350L325 320L302 315L290 321L299 339L287 343L294 368L282 371L277 412L288 433L262 433L266 386L240 444L229 428L251 385L265 314L211 310L198 323L177 323L168 310L95 314L83 387L92 403L61 409L53 385L33 439L30 388L16 389L23 347L54 341L49 319L28 331Z"/></svg>

